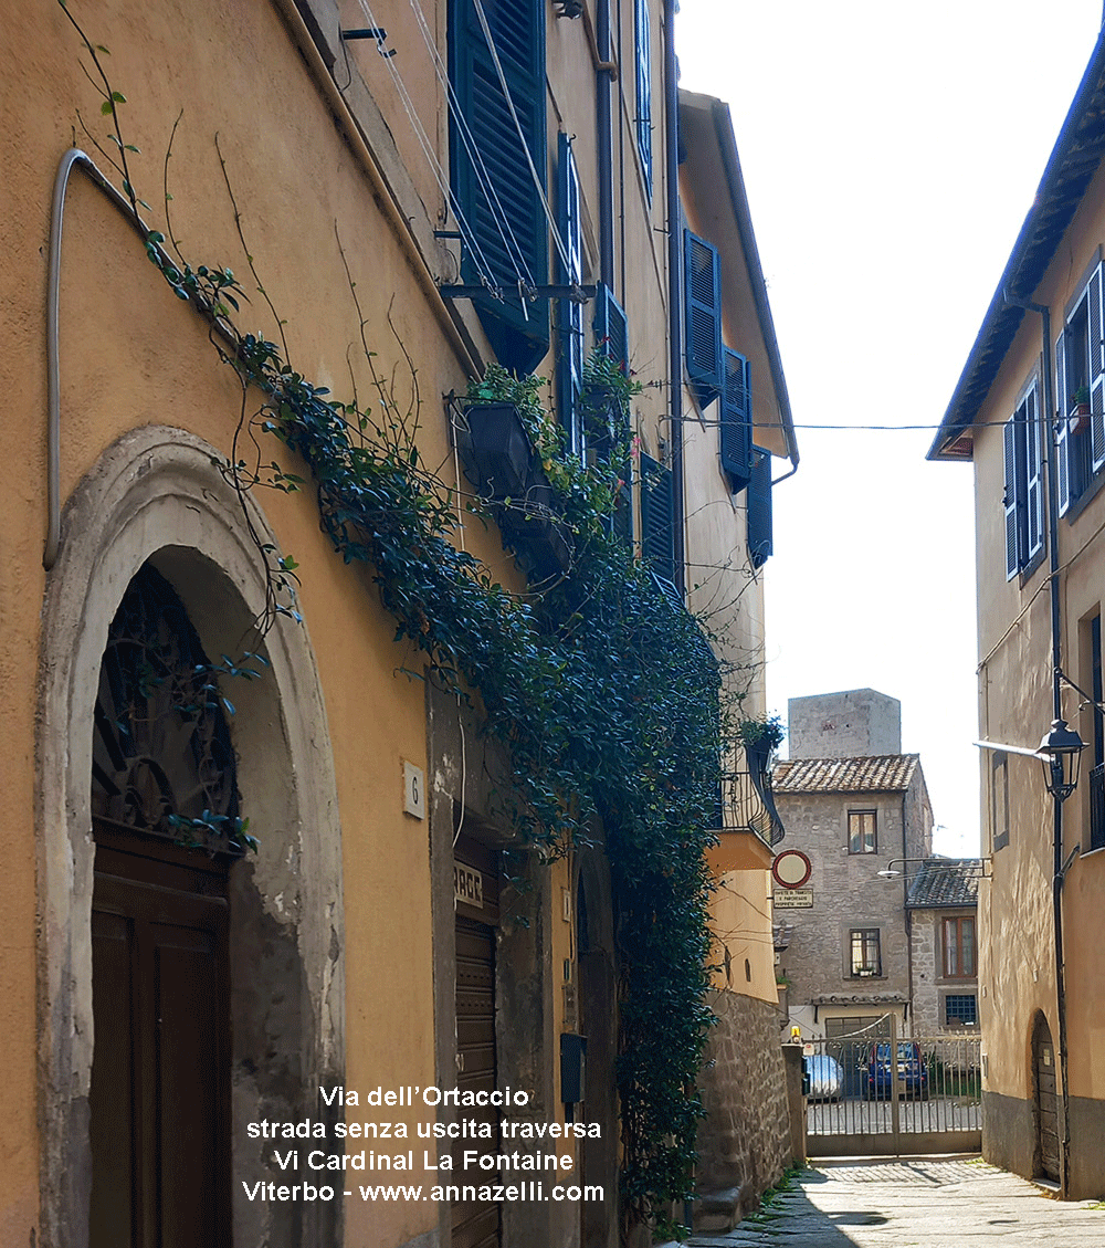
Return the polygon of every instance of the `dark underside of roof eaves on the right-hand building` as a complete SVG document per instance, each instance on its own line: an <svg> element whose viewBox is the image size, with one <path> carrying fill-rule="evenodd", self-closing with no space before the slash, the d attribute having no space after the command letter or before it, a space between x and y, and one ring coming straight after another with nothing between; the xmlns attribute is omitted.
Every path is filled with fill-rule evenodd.
<svg viewBox="0 0 1105 1248"><path fill-rule="evenodd" d="M1105 29L1075 92L1066 120L1040 178L1033 206L1020 227L1001 280L963 366L955 392L929 448L929 459L969 459L954 449L978 417L979 408L1009 351L1024 310L1005 295L1029 300L1050 265L1066 227L1105 156Z"/></svg>

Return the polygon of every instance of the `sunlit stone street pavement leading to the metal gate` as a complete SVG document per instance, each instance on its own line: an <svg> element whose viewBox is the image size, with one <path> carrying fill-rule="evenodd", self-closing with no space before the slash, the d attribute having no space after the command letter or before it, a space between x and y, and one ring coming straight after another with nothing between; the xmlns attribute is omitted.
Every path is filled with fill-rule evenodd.
<svg viewBox="0 0 1105 1248"><path fill-rule="evenodd" d="M1055 1201L980 1158L818 1162L727 1234L695 1248L1096 1248L1105 1202Z"/></svg>

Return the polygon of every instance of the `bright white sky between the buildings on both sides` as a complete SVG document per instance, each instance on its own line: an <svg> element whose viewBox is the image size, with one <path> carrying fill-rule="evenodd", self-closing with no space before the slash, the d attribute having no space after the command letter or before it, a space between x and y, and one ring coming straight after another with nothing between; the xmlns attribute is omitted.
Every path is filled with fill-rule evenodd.
<svg viewBox="0 0 1105 1248"><path fill-rule="evenodd" d="M939 423L1101 16L1101 0L681 0L677 19L681 85L731 106L799 427L774 492L768 706L898 698L945 854L978 852L970 468L928 463L932 429L801 426Z"/></svg>

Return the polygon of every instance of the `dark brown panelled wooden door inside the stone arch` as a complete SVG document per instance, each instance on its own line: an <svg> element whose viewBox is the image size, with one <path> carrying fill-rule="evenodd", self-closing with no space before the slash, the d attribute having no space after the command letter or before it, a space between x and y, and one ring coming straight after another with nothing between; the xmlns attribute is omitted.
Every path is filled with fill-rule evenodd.
<svg viewBox="0 0 1105 1248"><path fill-rule="evenodd" d="M90 1246L228 1248L224 869L131 840L97 834Z"/></svg>

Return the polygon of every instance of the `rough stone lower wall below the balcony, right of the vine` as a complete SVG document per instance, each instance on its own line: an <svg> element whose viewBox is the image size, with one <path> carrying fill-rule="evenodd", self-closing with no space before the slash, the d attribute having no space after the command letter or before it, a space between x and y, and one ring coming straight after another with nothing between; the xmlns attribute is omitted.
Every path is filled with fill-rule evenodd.
<svg viewBox="0 0 1105 1248"><path fill-rule="evenodd" d="M778 1010L738 992L716 992L717 1026L700 1077L700 1192L740 1188L753 1208L791 1163L791 1119Z"/></svg>

